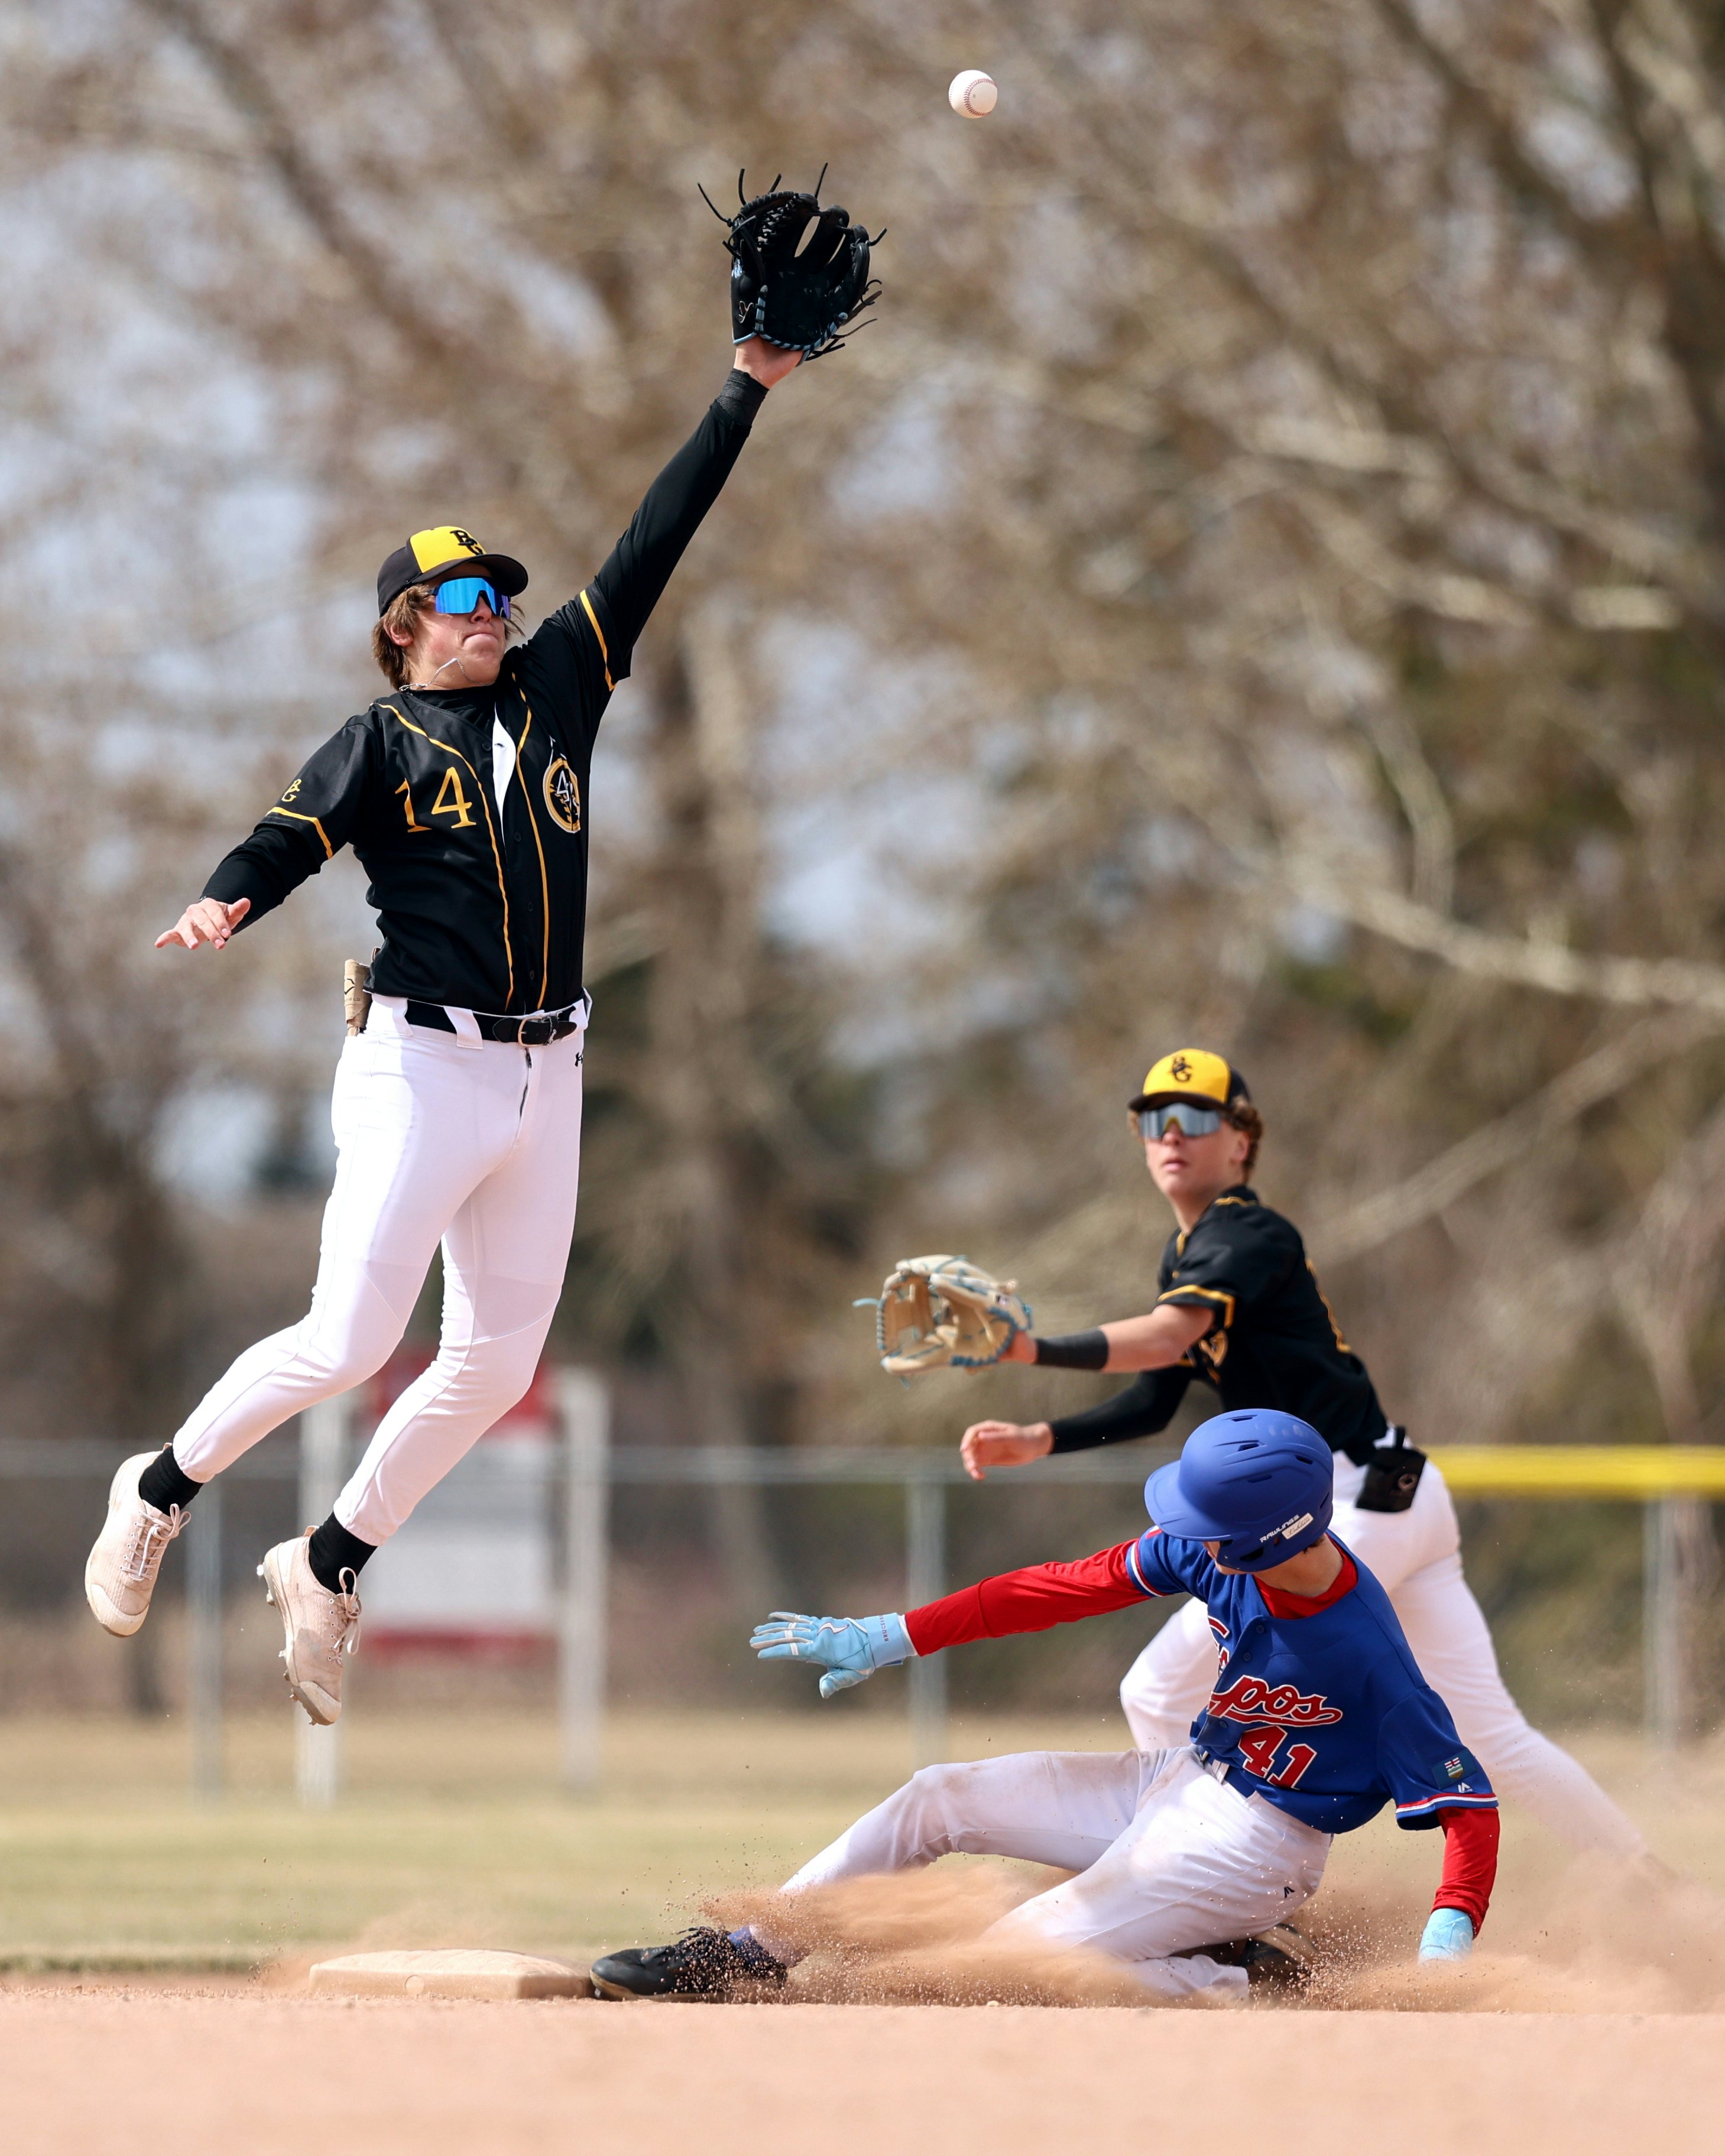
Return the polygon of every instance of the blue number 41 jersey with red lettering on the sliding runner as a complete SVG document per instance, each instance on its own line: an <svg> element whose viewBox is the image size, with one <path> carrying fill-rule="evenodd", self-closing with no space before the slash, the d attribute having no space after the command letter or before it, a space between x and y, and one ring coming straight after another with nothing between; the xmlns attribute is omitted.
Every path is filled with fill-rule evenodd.
<svg viewBox="0 0 1725 2156"><path fill-rule="evenodd" d="M1128 1548L1126 1570L1143 1593L1192 1593L1210 1611L1220 1669L1192 1744L1238 1789L1326 1835L1365 1826L1384 1805L1395 1805L1399 1826L1436 1826L1440 1811L1496 1811L1389 1595L1348 1557L1354 1585L1294 1617L1276 1615L1287 1595L1223 1572L1201 1542L1151 1526Z"/></svg>

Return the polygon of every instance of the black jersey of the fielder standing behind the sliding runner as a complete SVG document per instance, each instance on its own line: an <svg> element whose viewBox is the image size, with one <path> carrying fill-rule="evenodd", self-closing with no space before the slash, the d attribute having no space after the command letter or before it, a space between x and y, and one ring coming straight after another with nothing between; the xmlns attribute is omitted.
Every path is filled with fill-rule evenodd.
<svg viewBox="0 0 1725 2156"><path fill-rule="evenodd" d="M1078 1453L1167 1429L1192 1378L1229 1408L1281 1408L1365 1464L1384 1410L1365 1363L1337 1330L1300 1231L1246 1184L1225 1190L1190 1229L1169 1238L1158 1304L1210 1311L1210 1330L1179 1363L1145 1369L1113 1399L1054 1425L1054 1451Z"/></svg>

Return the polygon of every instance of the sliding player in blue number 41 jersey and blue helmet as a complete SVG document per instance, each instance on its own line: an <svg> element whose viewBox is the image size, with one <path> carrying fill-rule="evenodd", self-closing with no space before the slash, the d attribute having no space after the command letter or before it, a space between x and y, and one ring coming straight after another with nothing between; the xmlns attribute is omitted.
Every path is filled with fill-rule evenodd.
<svg viewBox="0 0 1725 2156"><path fill-rule="evenodd" d="M1389 1595L1330 1533L1324 1438L1274 1410L1218 1414L1151 1475L1145 1503L1149 1533L1076 1563L1007 1572L906 1617L776 1613L757 1628L763 1660L826 1671L824 1699L888 1662L1154 1595L1190 1593L1220 1649L1190 1738L923 1768L785 1893L955 1850L1059 1865L1076 1876L1011 1910L992 1938L1104 1953L1167 1999L1244 1996L1309 1973L1311 1947L1287 1919L1317 1893L1333 1837L1393 1802L1399 1826L1445 1833L1419 1958L1471 1953L1496 1878L1496 1798ZM591 1975L606 1999L722 1999L783 1984L791 1960L768 1921L625 1947Z"/></svg>

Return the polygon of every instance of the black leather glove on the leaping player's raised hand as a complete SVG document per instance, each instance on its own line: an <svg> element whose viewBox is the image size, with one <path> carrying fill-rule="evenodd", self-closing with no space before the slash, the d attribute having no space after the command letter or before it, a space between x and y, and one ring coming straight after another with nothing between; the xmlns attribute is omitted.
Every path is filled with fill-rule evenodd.
<svg viewBox="0 0 1725 2156"><path fill-rule="evenodd" d="M822 166L826 179L826 166ZM731 254L731 341L763 336L785 351L817 360L837 351L847 323L875 304L880 280L869 280L869 248L886 237L850 222L850 211L822 209L822 179L813 194L778 190L748 201L737 172L742 209L727 218L707 190L707 209L727 229ZM813 226L813 231L811 231Z"/></svg>

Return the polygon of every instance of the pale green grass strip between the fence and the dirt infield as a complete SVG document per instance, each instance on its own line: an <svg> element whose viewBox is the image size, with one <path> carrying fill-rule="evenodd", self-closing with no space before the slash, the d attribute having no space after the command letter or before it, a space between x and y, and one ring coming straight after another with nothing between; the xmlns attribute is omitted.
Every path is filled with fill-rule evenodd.
<svg viewBox="0 0 1725 2156"><path fill-rule="evenodd" d="M229 1727L231 1794L185 1794L175 1723L0 1720L0 1966L224 1968L356 1945L507 1945L580 1953L649 1940L724 1887L772 1882L906 1774L886 1714L619 1714L593 1798L556 1785L546 1716L448 1712L345 1731L347 1787L293 1802L287 1714ZM955 1757L1113 1749L1113 1720L957 1723ZM1680 1774L1628 1740L1585 1746L1675 1863L1725 1884L1725 1753ZM1430 1843L1430 1846L1427 1846ZM1565 1852L1509 1822L1505 1889L1550 1880ZM1436 1841L1376 1822L1337 1848L1333 1880L1406 1878L1430 1893Z"/></svg>

